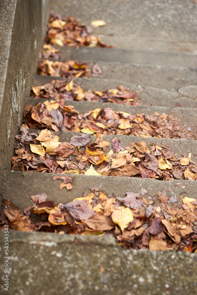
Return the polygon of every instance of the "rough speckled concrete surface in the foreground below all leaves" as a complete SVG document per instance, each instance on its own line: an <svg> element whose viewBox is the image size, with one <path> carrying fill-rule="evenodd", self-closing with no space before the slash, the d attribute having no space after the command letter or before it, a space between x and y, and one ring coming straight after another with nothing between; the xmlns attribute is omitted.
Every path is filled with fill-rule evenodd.
<svg viewBox="0 0 197 295"><path fill-rule="evenodd" d="M14 295L196 295L196 254L124 250L107 236L10 231L9 255Z"/></svg>

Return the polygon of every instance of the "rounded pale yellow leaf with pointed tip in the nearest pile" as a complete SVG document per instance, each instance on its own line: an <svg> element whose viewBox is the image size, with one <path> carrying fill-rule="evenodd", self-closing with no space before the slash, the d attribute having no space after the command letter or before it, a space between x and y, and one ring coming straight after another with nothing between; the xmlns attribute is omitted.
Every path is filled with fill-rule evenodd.
<svg viewBox="0 0 197 295"><path fill-rule="evenodd" d="M120 206L112 212L112 220L115 224L118 224L121 231L128 227L129 222L133 221L133 213L130 208Z"/></svg>

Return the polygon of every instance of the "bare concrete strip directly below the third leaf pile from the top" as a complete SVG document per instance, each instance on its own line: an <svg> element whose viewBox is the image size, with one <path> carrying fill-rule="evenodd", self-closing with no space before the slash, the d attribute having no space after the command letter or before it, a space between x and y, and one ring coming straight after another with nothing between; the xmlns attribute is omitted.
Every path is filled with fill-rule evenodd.
<svg viewBox="0 0 197 295"><path fill-rule="evenodd" d="M26 105L35 105L40 101L44 101L43 99L30 97L26 101ZM114 111L122 111L127 112L129 114L142 114L145 113L147 115L154 115L154 112L158 112L159 114L172 114L174 118L177 118L180 121L180 124L185 128L192 127L196 128L196 114L197 109L192 108L170 108L166 106L144 106L144 105L134 105L134 106L126 106L123 104L113 104L109 102L91 102L91 101L65 101L65 105L72 105L79 112L79 114L84 114L93 110L95 108L108 108L110 107Z"/></svg>

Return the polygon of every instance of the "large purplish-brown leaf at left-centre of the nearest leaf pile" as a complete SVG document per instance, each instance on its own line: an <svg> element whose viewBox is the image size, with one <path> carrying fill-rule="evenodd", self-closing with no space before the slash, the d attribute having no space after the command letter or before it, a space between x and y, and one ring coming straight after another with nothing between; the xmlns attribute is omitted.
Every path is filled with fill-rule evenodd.
<svg viewBox="0 0 197 295"><path fill-rule="evenodd" d="M95 215L95 212L84 201L70 202L66 205L61 204L59 207L60 209L66 208L75 220L86 220Z"/></svg>

